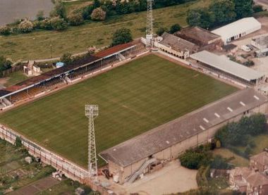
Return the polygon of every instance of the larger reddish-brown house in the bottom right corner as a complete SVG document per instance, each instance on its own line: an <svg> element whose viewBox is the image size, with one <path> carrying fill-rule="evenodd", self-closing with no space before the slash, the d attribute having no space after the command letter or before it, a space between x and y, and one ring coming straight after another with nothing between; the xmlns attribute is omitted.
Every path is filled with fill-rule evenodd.
<svg viewBox="0 0 268 195"><path fill-rule="evenodd" d="M246 194L268 194L268 177L250 168L235 168L230 171L232 189Z"/></svg>

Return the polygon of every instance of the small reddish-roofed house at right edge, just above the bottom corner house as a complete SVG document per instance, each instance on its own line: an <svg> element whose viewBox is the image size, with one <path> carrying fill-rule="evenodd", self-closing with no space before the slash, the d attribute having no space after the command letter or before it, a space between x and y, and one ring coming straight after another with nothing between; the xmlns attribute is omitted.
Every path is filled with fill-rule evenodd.
<svg viewBox="0 0 268 195"><path fill-rule="evenodd" d="M268 175L268 152L263 151L250 157L250 168Z"/></svg>

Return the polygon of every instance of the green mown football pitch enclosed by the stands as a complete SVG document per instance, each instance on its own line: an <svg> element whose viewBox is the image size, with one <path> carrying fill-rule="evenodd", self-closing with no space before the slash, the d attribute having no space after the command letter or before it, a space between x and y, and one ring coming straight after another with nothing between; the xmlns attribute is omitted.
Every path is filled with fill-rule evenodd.
<svg viewBox="0 0 268 195"><path fill-rule="evenodd" d="M164 58L138 58L0 115L0 122L71 161L87 165L85 104L98 104L97 151L205 106L235 87Z"/></svg>

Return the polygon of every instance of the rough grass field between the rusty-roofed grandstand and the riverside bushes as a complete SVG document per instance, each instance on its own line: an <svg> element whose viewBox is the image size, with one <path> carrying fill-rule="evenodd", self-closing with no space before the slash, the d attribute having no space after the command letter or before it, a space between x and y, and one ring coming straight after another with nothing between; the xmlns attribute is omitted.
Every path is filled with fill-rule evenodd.
<svg viewBox="0 0 268 195"><path fill-rule="evenodd" d="M209 6L212 0L197 0L178 6L154 10L154 29L170 27L175 23L187 25L186 13L190 8ZM112 33L128 27L133 37L145 35L146 12L131 13L109 18L104 22L90 22L78 27L69 27L63 32L36 31L30 34L17 34L0 37L0 55L28 61L29 59L61 56L65 52L78 53L86 51L90 45L97 47L111 44Z"/></svg>

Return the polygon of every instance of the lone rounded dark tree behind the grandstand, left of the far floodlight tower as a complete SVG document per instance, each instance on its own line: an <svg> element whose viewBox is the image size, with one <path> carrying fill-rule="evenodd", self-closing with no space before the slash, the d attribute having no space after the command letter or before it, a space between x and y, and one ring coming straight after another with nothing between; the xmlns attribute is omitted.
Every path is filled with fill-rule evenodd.
<svg viewBox="0 0 268 195"><path fill-rule="evenodd" d="M133 39L131 31L128 28L123 27L114 32L111 46L115 46L118 44L126 44L128 42L131 42L132 40Z"/></svg>

